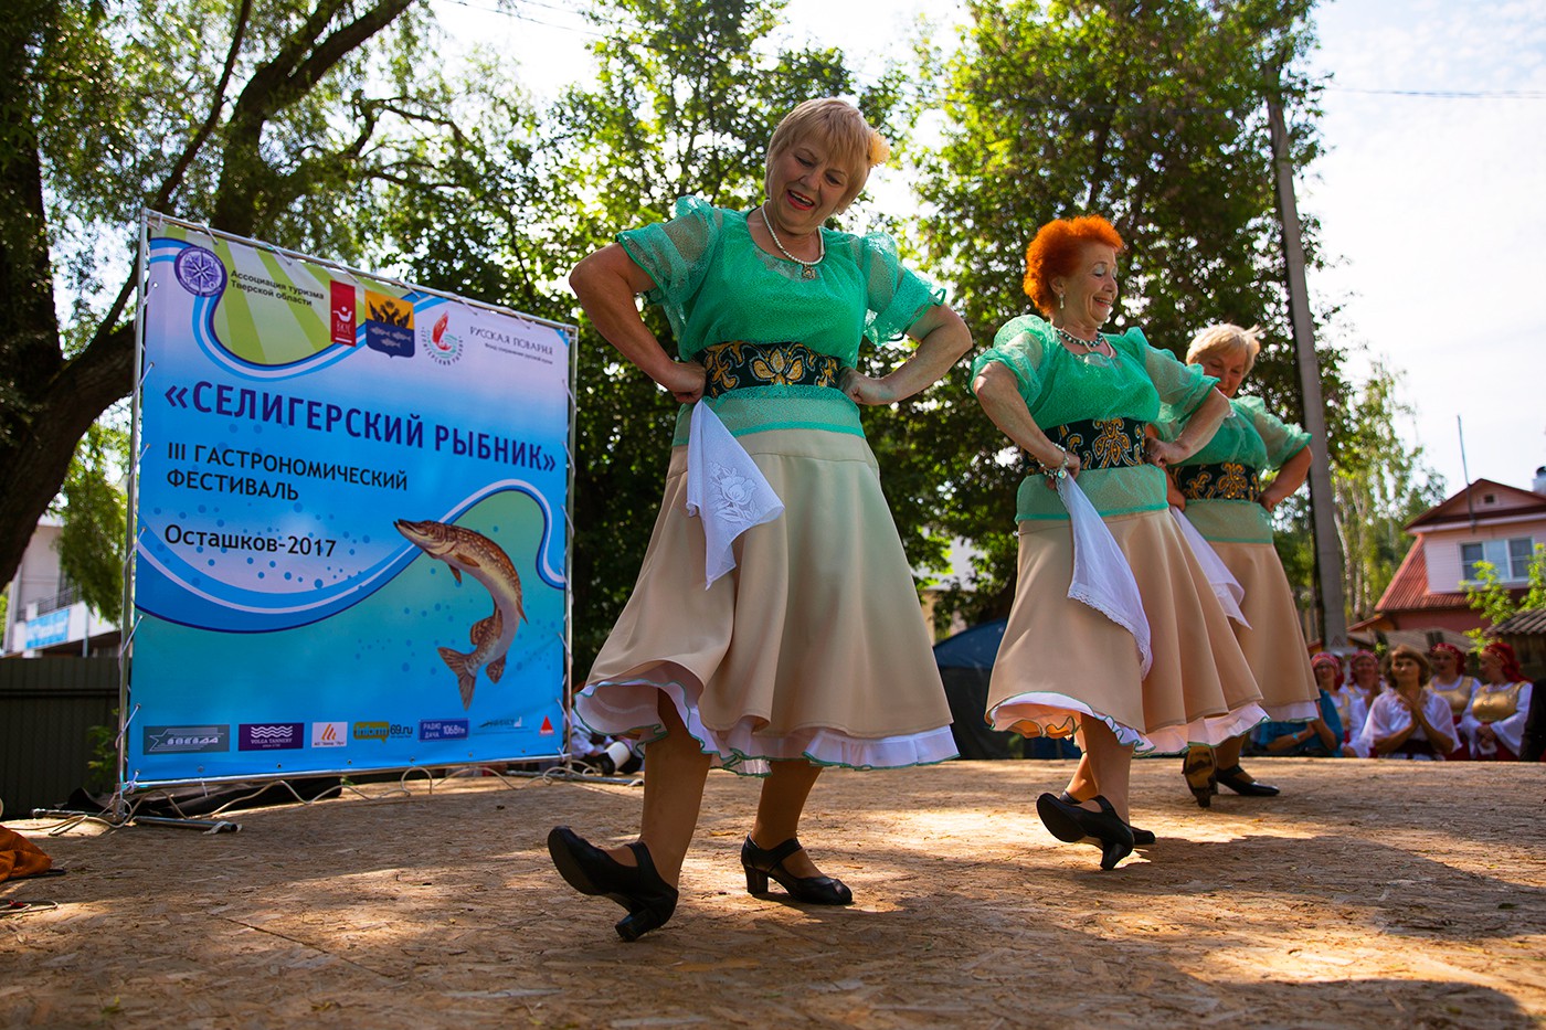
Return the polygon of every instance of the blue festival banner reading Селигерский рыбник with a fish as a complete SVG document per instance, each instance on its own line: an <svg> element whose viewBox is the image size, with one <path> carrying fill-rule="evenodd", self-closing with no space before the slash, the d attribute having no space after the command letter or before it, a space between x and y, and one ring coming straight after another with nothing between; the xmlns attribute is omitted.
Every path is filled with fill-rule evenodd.
<svg viewBox="0 0 1546 1030"><path fill-rule="evenodd" d="M574 328L145 235L125 781L563 753Z"/></svg>

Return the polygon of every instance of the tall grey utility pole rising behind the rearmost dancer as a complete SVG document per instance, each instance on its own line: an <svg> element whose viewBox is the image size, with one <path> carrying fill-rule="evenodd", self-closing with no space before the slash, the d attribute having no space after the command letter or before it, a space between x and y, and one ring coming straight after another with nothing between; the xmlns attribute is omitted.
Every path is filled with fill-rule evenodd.
<svg viewBox="0 0 1546 1030"><path fill-rule="evenodd" d="M1279 70L1282 82L1282 70ZM1316 588L1320 595L1320 643L1328 651L1348 645L1347 608L1342 600L1342 551L1333 515L1331 448L1326 441L1326 410L1320 397L1320 362L1309 320L1309 294L1305 291L1305 246L1299 238L1299 206L1294 203L1294 164L1283 125L1283 105L1274 91L1266 101L1272 135L1272 170L1277 179L1277 212L1283 223L1283 260L1288 264L1288 311L1294 323L1294 354L1299 388L1305 397L1305 430L1314 438L1309 466L1309 510L1316 530Z"/></svg>

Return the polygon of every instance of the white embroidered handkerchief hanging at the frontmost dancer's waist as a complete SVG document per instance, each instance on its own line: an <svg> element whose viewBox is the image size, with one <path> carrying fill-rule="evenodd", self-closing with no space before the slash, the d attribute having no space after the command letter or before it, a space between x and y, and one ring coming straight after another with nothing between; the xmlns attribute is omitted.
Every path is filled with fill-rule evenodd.
<svg viewBox="0 0 1546 1030"><path fill-rule="evenodd" d="M771 523L784 513L784 501L751 455L741 445L713 408L699 401L686 441L686 513L703 520L703 583L736 568L730 544L736 537Z"/></svg>

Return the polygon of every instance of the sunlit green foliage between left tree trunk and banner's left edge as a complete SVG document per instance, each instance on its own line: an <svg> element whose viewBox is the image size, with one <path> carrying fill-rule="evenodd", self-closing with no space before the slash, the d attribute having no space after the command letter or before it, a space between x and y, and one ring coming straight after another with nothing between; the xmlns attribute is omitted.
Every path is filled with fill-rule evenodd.
<svg viewBox="0 0 1546 1030"><path fill-rule="evenodd" d="M128 435L96 422L80 438L60 487L56 513L59 568L80 588L80 599L108 622L124 608L124 547L128 506L117 484L128 455Z"/></svg>

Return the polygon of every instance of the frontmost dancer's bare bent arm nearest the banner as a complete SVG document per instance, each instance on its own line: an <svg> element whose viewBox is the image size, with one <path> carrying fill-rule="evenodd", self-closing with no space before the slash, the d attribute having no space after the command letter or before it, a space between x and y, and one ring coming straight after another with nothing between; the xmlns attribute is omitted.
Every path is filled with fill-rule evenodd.
<svg viewBox="0 0 1546 1030"><path fill-rule="evenodd" d="M597 331L642 373L683 404L703 396L703 367L673 360L638 317L634 295L654 289L656 280L621 246L609 243L587 254L569 272L569 286Z"/></svg>

